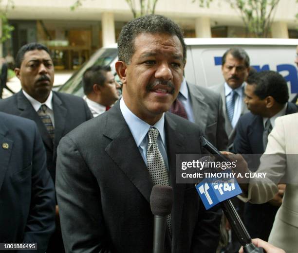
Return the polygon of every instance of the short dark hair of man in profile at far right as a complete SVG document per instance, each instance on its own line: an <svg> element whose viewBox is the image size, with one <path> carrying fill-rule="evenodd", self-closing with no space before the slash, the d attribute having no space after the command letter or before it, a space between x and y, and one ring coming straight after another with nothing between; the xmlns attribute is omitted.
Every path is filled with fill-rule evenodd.
<svg viewBox="0 0 298 253"><path fill-rule="evenodd" d="M275 71L261 71L248 76L248 85L255 85L255 94L264 99L272 96L279 104L285 104L289 100L289 90L286 80Z"/></svg>

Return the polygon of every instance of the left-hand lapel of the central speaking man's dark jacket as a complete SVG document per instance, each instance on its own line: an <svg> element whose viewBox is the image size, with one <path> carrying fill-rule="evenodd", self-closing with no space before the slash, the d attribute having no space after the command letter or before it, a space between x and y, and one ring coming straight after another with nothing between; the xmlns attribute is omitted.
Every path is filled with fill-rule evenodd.
<svg viewBox="0 0 298 253"><path fill-rule="evenodd" d="M107 112L106 117L104 135L112 139L106 147L106 152L127 176L128 180L150 202L153 183L130 129L122 116L119 103ZM127 155L123 155L123 150L127 151Z"/></svg>

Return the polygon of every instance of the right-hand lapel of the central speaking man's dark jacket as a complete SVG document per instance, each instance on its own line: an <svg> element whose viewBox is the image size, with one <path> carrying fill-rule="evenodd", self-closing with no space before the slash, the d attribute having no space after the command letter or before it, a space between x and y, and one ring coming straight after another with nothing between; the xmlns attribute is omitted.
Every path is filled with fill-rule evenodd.
<svg viewBox="0 0 298 253"><path fill-rule="evenodd" d="M184 193L186 189L186 184L176 183L176 154L181 154L185 152L185 143L183 135L177 129L177 124L168 116L168 113L166 113L165 115L165 129L167 140L169 176L175 196L172 208L172 221L175 221L172 222L172 252L175 252L177 238L181 236L181 217L184 206Z"/></svg>

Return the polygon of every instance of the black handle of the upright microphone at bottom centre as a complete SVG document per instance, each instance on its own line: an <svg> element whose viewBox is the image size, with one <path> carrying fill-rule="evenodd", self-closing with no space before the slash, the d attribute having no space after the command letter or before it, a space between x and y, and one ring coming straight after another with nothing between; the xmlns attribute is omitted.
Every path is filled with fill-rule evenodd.
<svg viewBox="0 0 298 253"><path fill-rule="evenodd" d="M154 215L153 253L163 253L167 229L167 216Z"/></svg>

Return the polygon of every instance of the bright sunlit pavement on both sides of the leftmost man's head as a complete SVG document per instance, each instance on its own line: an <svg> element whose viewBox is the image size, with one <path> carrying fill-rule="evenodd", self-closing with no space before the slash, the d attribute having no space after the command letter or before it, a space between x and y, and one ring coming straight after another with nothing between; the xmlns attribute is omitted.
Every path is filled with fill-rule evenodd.
<svg viewBox="0 0 298 253"><path fill-rule="evenodd" d="M55 71L54 87L64 84L74 72L75 71ZM14 92L18 92L21 89L18 77L10 78L6 85ZM7 98L11 95L12 94L8 90L4 89L2 98Z"/></svg>

